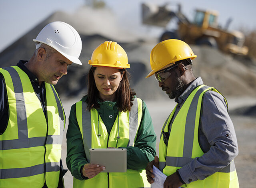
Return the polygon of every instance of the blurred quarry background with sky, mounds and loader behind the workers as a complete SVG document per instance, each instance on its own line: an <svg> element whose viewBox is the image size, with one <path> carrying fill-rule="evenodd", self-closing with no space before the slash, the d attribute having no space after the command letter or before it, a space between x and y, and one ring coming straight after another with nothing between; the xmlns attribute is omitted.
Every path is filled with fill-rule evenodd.
<svg viewBox="0 0 256 188"><path fill-rule="evenodd" d="M174 100L158 87L150 72L150 51L161 40L187 42L197 58L196 77L216 87L228 100L236 129L239 155L235 159L240 187L256 183L256 1L253 0L8 0L0 1L0 67L32 56L40 30L53 21L73 26L82 39L80 60L55 85L68 117L70 107L86 94L87 64L102 42L118 42L128 55L131 87L146 101L158 143L160 129ZM65 132L68 127L66 123ZM248 139L249 138L249 139ZM66 167L66 138L62 160ZM64 176L72 187L72 175Z"/></svg>

